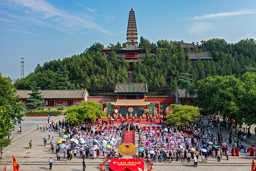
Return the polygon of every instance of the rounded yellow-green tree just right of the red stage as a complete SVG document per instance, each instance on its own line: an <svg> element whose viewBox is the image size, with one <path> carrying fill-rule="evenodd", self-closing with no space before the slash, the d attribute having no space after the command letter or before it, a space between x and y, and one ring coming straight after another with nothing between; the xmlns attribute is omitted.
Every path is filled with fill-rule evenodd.
<svg viewBox="0 0 256 171"><path fill-rule="evenodd" d="M170 105L173 108L172 114L167 116L166 124L173 126L189 125L189 122L197 120L200 112L196 107L188 105Z"/></svg>

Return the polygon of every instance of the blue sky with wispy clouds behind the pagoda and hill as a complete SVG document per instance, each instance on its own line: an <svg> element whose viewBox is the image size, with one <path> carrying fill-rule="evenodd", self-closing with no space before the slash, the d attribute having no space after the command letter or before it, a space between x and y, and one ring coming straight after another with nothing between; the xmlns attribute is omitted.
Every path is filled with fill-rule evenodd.
<svg viewBox="0 0 256 171"><path fill-rule="evenodd" d="M255 1L0 1L0 73L20 78L39 63L83 53L94 42L126 41L128 15L135 11L138 38L236 43L256 39ZM140 41L140 40L138 40Z"/></svg>

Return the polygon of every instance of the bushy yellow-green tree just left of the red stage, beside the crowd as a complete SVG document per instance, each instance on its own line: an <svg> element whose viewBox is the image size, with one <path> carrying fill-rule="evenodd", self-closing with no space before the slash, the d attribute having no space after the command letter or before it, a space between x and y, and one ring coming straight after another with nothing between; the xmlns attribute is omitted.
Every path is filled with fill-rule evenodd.
<svg viewBox="0 0 256 171"><path fill-rule="evenodd" d="M68 108L65 118L72 124L80 124L86 120L96 121L99 118L106 119L107 117L99 102L83 101L77 106Z"/></svg>

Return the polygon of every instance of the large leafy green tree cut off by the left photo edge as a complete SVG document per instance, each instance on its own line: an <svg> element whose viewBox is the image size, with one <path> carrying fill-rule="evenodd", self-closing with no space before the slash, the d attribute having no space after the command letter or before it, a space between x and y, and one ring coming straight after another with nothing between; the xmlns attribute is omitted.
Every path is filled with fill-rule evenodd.
<svg viewBox="0 0 256 171"><path fill-rule="evenodd" d="M12 85L11 78L4 78L0 73L0 147L1 151L4 147L11 144L8 135L14 130L17 121L22 120L24 114L24 103L19 101L20 96L16 95L17 89ZM19 101L19 102L17 102ZM1 153L1 158L4 156Z"/></svg>

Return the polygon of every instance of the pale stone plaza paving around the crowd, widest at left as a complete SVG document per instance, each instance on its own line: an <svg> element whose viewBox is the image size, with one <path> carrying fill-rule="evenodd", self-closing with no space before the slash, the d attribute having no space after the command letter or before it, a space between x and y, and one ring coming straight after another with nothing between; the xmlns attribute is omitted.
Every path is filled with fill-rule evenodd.
<svg viewBox="0 0 256 171"><path fill-rule="evenodd" d="M63 120L64 116L50 117L50 120L58 122ZM67 162L61 155L61 161L56 161L56 154L50 150L50 140L48 140L48 133L43 130L37 131L37 125L42 124L45 126L48 124L47 117L24 117L22 122L22 133L17 134L18 127L15 126L15 131L12 133L11 146L5 148L4 156L5 159L0 160L0 169L4 167L4 163L7 163L7 170L12 170L12 154L15 156L17 162L20 164L20 170L49 170L48 160L53 157L52 170L83 170L82 157L77 155L77 159L72 159L71 162ZM204 118L206 120L206 118ZM53 132L52 128L49 128L51 132L50 137L54 137L55 142L59 139L59 133ZM216 128L212 131L215 134ZM229 133L222 128L223 138L228 140ZM234 134L232 134L234 135ZM43 138L47 138L48 142L46 146L43 144ZM31 149L28 148L29 141L32 140ZM233 140L233 137L232 137ZM252 137L246 140L246 147L255 144L256 136L253 134ZM135 134L135 143L138 146L138 133ZM231 147L229 147L229 152ZM231 154L231 153L230 153ZM103 163L103 156L100 155L99 159L87 159L86 170L99 170L99 163ZM146 163L146 160L144 160ZM217 158L210 156L208 157L208 163L201 163L201 157L198 159L198 167L194 167L194 163L190 162L178 162L173 161L172 163L154 163L153 170L250 170L252 163L252 157L249 154L242 154L240 156L233 157L229 155L229 160L223 156L221 162L217 162ZM105 164L104 169L108 171L108 163ZM148 164L145 164L145 170L150 169Z"/></svg>

